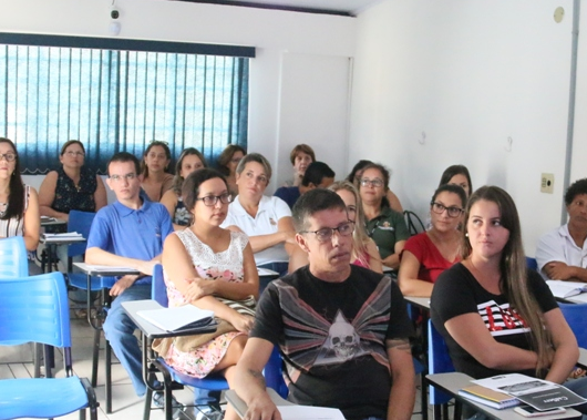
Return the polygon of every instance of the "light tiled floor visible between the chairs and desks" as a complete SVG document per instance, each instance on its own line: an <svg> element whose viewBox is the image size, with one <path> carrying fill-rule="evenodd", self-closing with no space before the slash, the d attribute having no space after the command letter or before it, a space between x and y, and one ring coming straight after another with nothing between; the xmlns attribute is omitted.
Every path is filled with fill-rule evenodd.
<svg viewBox="0 0 587 420"><path fill-rule="evenodd" d="M85 319L72 319L71 322L72 334L72 356L73 356L73 370L75 375L80 377L91 377L92 369L92 345L93 345L93 330L87 325ZM103 350L101 350L101 359L99 367L97 387L96 395L100 401L99 419L100 420L130 420L130 419L142 419L143 418L143 399L136 397L134 393L131 380L128 379L125 370L121 365L115 363L112 367L112 380L113 380L113 400L112 408L113 413L106 414L105 412L105 400L104 400L104 358ZM55 356L55 369L54 375L56 377L63 377L63 360L60 355ZM0 347L0 379L7 378L28 378L33 372L32 365L32 346L23 345L18 347ZM177 400L189 403L193 401L193 392L189 389L174 391L174 397ZM416 396L416 403L414 411L420 409L420 392ZM78 419L79 414L71 413L62 417L61 419ZM151 413L151 419L162 420L164 418L163 412L154 410ZM193 411L186 412L184 419L193 419ZM432 413L429 410L429 418L432 419ZM420 414L412 416L412 419L421 419Z"/></svg>

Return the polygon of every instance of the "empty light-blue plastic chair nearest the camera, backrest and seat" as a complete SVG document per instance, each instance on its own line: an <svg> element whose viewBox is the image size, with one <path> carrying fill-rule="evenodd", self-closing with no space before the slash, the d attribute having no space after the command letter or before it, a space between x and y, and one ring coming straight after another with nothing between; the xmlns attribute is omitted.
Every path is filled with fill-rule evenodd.
<svg viewBox="0 0 587 420"><path fill-rule="evenodd" d="M68 378L0 380L0 420L53 418L80 410L97 419L96 397L85 378L72 373L70 314L61 273L0 281L0 345L41 342L63 349ZM45 358L47 360L47 358ZM51 371L48 370L48 376Z"/></svg>

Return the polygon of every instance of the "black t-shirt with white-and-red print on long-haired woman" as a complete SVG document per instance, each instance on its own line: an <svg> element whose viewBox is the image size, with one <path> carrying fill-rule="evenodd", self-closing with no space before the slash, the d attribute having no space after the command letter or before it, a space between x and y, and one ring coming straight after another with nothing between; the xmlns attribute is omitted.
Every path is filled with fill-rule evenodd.
<svg viewBox="0 0 587 420"><path fill-rule="evenodd" d="M527 285L543 313L558 307L550 289L536 272L528 270ZM446 331L444 322L447 320L463 314L480 314L496 341L525 350L532 347L529 328L519 315L509 308L506 297L485 290L462 264L455 264L440 275L432 290L430 306L432 322L444 337L455 369L473 378L487 378L512 371L490 369L481 365ZM518 372L536 375L534 369Z"/></svg>

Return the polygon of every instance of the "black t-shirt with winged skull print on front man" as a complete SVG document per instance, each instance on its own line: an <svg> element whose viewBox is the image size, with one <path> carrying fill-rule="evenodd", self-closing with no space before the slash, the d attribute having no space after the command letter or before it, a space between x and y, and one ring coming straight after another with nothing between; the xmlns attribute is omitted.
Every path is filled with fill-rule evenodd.
<svg viewBox="0 0 587 420"><path fill-rule="evenodd" d="M412 335L389 276L351 266L344 281L328 283L306 266L267 287L250 337L279 345L290 401L339 408L353 420L387 417L385 339Z"/></svg>

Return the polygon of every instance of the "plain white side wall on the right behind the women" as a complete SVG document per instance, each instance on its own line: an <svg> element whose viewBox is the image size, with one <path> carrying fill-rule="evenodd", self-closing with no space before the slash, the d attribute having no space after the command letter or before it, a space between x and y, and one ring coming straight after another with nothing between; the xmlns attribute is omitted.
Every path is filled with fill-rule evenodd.
<svg viewBox="0 0 587 420"><path fill-rule="evenodd" d="M571 13L570 0L387 0L359 14L351 161L391 167L390 187L423 218L444 168L465 164L475 187L512 194L534 255L560 221ZM554 194L539 192L543 172Z"/></svg>

